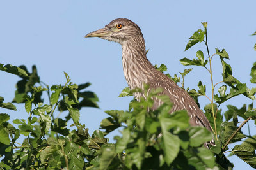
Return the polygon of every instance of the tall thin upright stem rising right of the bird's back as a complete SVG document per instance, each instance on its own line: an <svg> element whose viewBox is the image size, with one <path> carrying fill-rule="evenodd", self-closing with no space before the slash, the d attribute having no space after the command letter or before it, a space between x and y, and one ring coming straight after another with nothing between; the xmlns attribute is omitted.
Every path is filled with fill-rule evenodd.
<svg viewBox="0 0 256 170"><path fill-rule="evenodd" d="M210 57L210 53L209 53L208 40L207 40L207 29L206 28L205 28L205 45L206 45L207 53L208 53L208 57L209 57L209 65L210 65L209 73L211 74L211 84L212 84L211 105L212 105L212 117L213 117L213 122L214 122L214 129L215 129L214 134L216 136L216 140L218 141L217 127L216 127L216 117L215 117L214 108L213 108L214 85L213 85L213 78L212 78L212 57Z"/></svg>

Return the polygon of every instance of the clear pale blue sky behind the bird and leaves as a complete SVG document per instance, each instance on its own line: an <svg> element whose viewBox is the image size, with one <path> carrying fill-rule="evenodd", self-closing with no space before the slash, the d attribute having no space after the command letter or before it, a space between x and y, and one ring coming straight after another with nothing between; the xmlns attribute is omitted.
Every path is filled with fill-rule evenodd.
<svg viewBox="0 0 256 170"><path fill-rule="evenodd" d="M92 83L88 89L99 96L100 109L81 110L81 123L92 132L107 117L104 110L126 110L132 98L117 97L127 86L121 46L99 38L84 38L85 34L115 18L129 18L143 32L150 62L166 64L167 73L173 75L189 68L182 66L179 59L192 59L197 50L205 53L203 44L186 52L184 49L193 32L202 29L200 22L207 21L210 53L216 47L225 48L234 76L253 87L249 74L256 57L256 36L250 36L256 31L255 6L256 1L0 1L0 63L24 64L29 71L35 64L41 80L49 85L65 83L63 71L74 83ZM220 59L214 57L215 82L221 81L221 71ZM6 102L12 101L19 77L0 72L0 78L0 96ZM199 80L210 87L209 73L194 67L185 86L196 88ZM210 92L207 89L207 94ZM201 106L208 103L205 97L200 102ZM222 108L226 110L226 104L241 107L244 103L252 101L235 97ZM17 109L0 112L8 113L12 119L26 117L23 105L17 105ZM253 122L250 124L253 127ZM255 130L253 127L252 134ZM250 169L236 157L230 160L235 169Z"/></svg>

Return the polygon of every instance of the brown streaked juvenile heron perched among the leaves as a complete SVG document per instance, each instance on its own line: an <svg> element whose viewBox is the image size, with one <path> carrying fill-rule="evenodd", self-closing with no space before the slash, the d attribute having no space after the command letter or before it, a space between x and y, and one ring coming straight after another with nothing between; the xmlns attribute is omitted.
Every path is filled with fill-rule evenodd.
<svg viewBox="0 0 256 170"><path fill-rule="evenodd" d="M131 89L136 87L143 89L144 83L154 89L161 87L173 103L171 113L177 110L187 110L191 125L203 126L211 131L209 121L193 98L168 76L157 71L148 61L143 34L137 24L131 20L119 18L111 21L102 29L90 32L85 37L99 37L120 43L124 76ZM138 100L140 95L136 93L134 97ZM161 105L161 101L156 101L154 105L154 108L157 108Z"/></svg>

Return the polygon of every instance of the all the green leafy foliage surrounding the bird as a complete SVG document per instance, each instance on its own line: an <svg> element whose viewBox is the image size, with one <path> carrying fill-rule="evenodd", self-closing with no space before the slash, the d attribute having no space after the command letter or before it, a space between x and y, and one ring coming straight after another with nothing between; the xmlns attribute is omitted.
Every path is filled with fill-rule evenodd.
<svg viewBox="0 0 256 170"><path fill-rule="evenodd" d="M27 113L26 118L24 116L24 119L13 122L8 122L8 114L0 113L0 157L3 157L0 169L232 169L234 166L225 152L231 152L230 156L237 156L256 168L256 137L241 131L248 120L256 120L253 103L244 104L241 108L227 105L224 113L219 108L238 95L254 100L256 88L249 89L245 83L234 78L232 67L226 62L229 55L225 49L220 51L215 48L216 53L210 55L207 22L202 22L202 25L204 30L198 29L189 38L185 50L204 42L207 57L198 50L196 59L183 58L180 62L184 66L201 66L209 71L212 95L207 96L208 88L202 81L198 82L198 90L185 88L185 76L191 73L192 68L179 72L182 80L177 74L166 76L180 83L197 103L199 96L209 99L204 112L212 132L204 127L191 127L186 110L169 114L172 103L167 96L161 95L162 89L148 92L145 85L144 89L130 90L125 87L118 97L132 96L134 92L141 92L146 97L140 101L133 99L127 111L105 111L109 117L100 123L102 131L95 130L89 134L86 125L80 123L80 110L83 107L99 108L97 95L84 90L90 83L76 85L64 73L65 84L50 87L40 80L36 66L29 73L25 66L0 64L1 71L21 78L12 102L24 104ZM214 83L212 76L212 58L215 55L219 55L223 69L223 81L218 83ZM155 67L162 73L167 71L164 64ZM250 81L256 83L256 62L250 75ZM216 93L216 85L219 84ZM43 93L49 97L49 103L44 103ZM156 98L163 104L151 110ZM17 110L12 103L3 101L4 98L0 97L0 107ZM65 119L56 118L55 115L62 112L67 114ZM238 122L239 118L243 122ZM70 127L67 126L68 121ZM115 136L115 143L109 143L106 135L119 127L122 127L119 129L120 136ZM212 136L215 145L208 145L208 149L204 146L212 140ZM23 140L22 143L17 143L17 139ZM228 148L230 143L237 142L240 144Z"/></svg>

